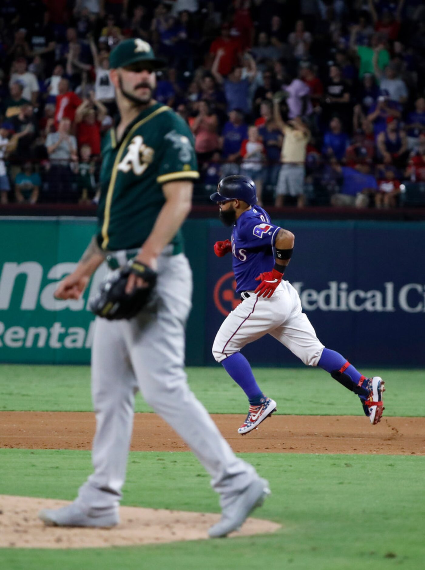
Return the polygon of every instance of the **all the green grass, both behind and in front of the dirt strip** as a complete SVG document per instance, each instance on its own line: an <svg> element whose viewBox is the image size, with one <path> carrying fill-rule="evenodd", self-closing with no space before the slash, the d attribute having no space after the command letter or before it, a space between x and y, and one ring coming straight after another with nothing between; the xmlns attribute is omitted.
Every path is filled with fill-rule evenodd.
<svg viewBox="0 0 425 570"><path fill-rule="evenodd" d="M244 413L246 398L221 367L189 368L211 413ZM378 370L365 370L367 374ZM256 369L285 414L362 414L357 397L322 370ZM420 416L421 370L381 370L388 416ZM88 367L0 365L0 410L91 410ZM137 400L137 411L150 411ZM3 570L387 570L423 568L425 457L243 454L269 479L256 516L274 535L170 545L51 551L0 549ZM73 499L91 473L87 451L0 449L0 494ZM190 453L130 453L122 504L218 512L209 476ZM0 505L1 508L1 505Z"/></svg>

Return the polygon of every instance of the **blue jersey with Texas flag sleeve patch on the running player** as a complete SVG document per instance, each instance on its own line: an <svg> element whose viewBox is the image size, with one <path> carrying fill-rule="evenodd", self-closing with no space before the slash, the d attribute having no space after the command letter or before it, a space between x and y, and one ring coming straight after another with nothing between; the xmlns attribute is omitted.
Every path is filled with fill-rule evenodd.
<svg viewBox="0 0 425 570"><path fill-rule="evenodd" d="M253 206L239 216L232 230L232 265L236 292L254 291L255 278L271 271L275 264L273 247L280 227L271 223L263 208Z"/></svg>

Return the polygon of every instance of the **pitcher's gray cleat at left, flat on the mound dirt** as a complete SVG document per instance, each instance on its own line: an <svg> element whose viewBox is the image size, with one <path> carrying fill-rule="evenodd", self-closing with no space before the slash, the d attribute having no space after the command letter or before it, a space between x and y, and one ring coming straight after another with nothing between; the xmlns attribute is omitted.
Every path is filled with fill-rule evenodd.
<svg viewBox="0 0 425 570"><path fill-rule="evenodd" d="M91 508L83 512L74 502L62 508L43 508L38 518L47 527L98 527L111 528L119 522L118 508Z"/></svg>

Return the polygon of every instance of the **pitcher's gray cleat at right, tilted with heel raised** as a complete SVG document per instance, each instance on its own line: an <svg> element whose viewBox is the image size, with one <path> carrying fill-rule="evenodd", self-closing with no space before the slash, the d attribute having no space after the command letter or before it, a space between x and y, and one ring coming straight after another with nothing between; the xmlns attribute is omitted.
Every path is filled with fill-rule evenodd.
<svg viewBox="0 0 425 570"><path fill-rule="evenodd" d="M224 499L222 518L209 528L210 538L220 538L220 536L227 536L229 532L239 530L248 515L256 507L260 507L269 494L268 481L259 477L252 481L244 491L232 495L229 499Z"/></svg>

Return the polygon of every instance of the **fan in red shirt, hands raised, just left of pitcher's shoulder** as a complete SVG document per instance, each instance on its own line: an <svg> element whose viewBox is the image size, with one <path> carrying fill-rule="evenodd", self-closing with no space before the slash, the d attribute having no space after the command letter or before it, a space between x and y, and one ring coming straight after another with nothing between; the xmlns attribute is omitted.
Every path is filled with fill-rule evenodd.
<svg viewBox="0 0 425 570"><path fill-rule="evenodd" d="M100 101L96 101L93 93L90 95L90 99L84 99L75 113L77 143L79 148L88 145L92 155L97 156L100 154L100 128L107 115L107 108Z"/></svg>

